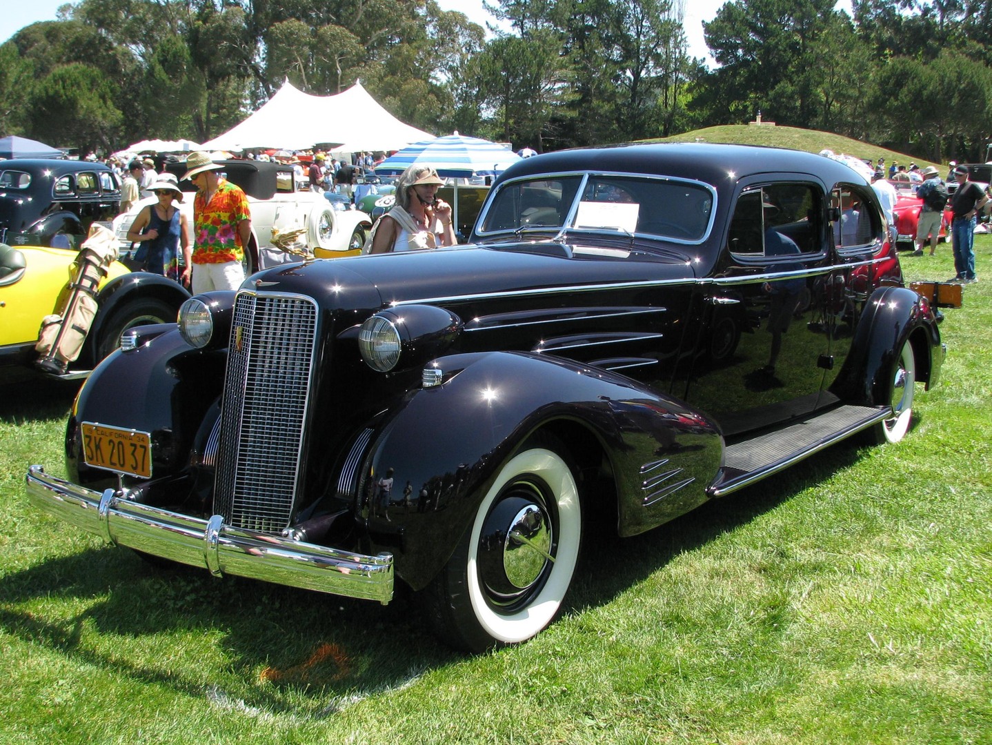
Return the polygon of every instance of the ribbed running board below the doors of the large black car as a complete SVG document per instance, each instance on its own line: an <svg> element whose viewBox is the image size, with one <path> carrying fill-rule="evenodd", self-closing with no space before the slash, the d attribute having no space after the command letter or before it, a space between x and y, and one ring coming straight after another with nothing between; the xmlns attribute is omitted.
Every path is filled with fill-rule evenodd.
<svg viewBox="0 0 992 745"><path fill-rule="evenodd" d="M727 445L720 472L706 493L722 497L742 489L891 416L892 409L887 406L840 406L767 435Z"/></svg>

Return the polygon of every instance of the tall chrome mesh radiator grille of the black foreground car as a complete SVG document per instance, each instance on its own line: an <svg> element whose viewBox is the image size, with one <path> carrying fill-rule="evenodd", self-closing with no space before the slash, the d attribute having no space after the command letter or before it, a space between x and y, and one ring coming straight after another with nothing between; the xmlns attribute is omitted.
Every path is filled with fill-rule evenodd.
<svg viewBox="0 0 992 745"><path fill-rule="evenodd" d="M310 298L241 292L234 304L213 511L278 533L300 480L317 309Z"/></svg>

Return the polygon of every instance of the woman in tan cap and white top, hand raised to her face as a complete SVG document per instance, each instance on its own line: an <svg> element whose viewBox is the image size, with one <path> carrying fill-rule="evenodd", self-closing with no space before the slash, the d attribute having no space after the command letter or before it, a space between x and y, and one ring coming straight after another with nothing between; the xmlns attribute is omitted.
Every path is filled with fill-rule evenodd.
<svg viewBox="0 0 992 745"><path fill-rule="evenodd" d="M444 182L428 166L411 166L396 184L396 204L372 230L369 253L453 246L451 205L438 199Z"/></svg>

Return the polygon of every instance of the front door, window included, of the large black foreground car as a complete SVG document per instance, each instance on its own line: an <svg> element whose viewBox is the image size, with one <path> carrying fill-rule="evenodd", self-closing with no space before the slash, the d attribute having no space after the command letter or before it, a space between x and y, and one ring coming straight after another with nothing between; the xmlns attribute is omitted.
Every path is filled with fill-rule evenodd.
<svg viewBox="0 0 992 745"><path fill-rule="evenodd" d="M832 281L827 199L813 182L756 180L731 208L703 285L704 322L686 396L724 435L813 411L828 361L820 304Z"/></svg>

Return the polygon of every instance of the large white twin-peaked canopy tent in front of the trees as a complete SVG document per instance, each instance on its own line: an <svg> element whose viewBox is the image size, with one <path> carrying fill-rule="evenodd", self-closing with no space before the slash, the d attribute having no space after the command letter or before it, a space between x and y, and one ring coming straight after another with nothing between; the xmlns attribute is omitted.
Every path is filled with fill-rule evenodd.
<svg viewBox="0 0 992 745"><path fill-rule="evenodd" d="M432 137L386 111L360 82L337 95L316 96L304 93L287 80L258 111L203 143L203 149L304 150L328 143L340 146L335 151L354 153L398 150Z"/></svg>

